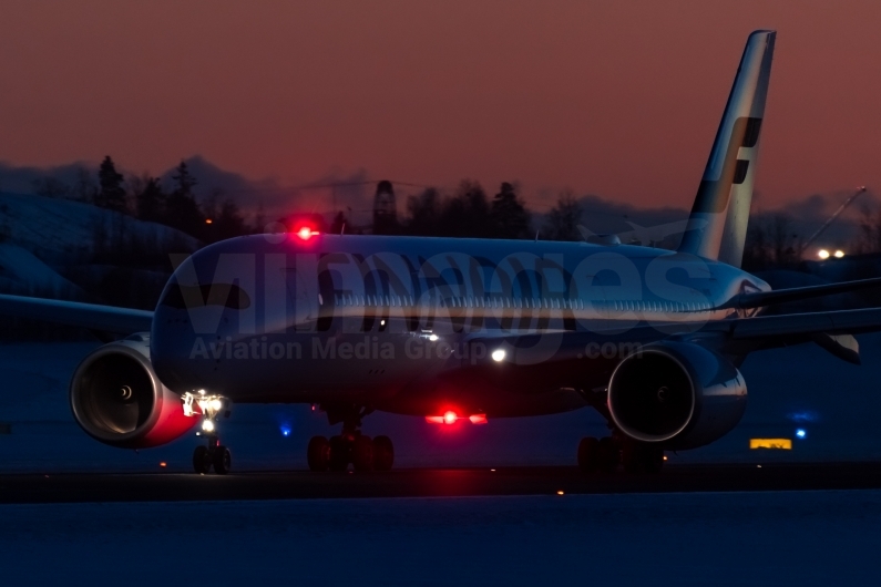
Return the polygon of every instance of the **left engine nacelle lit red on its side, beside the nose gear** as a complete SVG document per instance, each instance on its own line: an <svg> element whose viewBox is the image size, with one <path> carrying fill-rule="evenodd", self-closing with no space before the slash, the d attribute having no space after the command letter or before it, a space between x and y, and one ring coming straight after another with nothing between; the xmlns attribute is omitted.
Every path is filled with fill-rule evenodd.
<svg viewBox="0 0 881 587"><path fill-rule="evenodd" d="M148 334L111 342L86 357L73 373L70 402L90 436L121 449L165 444L199 421L184 415L181 395L153 371Z"/></svg>

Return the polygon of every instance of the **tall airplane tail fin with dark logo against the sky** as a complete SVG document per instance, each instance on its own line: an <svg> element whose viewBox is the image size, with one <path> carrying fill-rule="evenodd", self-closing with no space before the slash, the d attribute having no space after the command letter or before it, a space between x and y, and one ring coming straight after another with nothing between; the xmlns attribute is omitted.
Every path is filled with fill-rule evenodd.
<svg viewBox="0 0 881 587"><path fill-rule="evenodd" d="M679 250L740 267L775 31L747 39Z"/></svg>

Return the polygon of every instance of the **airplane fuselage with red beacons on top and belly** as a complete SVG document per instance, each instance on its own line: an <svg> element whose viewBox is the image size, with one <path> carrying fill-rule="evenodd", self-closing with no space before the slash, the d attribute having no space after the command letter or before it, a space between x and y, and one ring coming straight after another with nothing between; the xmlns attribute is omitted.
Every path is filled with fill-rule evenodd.
<svg viewBox="0 0 881 587"><path fill-rule="evenodd" d="M151 359L175 391L236 402L554 413L583 406L575 390L604 385L642 346L736 317L718 307L767 289L729 265L645 247L240 237L175 271Z"/></svg>

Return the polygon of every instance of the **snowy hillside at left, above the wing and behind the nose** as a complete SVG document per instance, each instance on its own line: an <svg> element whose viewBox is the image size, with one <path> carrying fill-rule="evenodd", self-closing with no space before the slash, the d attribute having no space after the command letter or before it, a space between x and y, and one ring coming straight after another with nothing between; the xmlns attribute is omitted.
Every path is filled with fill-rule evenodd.
<svg viewBox="0 0 881 587"><path fill-rule="evenodd" d="M0 292L152 309L195 238L82 202L0 193Z"/></svg>

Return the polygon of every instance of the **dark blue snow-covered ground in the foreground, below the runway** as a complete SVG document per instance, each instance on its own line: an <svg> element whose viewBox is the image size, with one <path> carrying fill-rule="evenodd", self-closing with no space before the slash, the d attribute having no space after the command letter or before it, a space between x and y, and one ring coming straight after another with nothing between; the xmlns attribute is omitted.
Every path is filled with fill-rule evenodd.
<svg viewBox="0 0 881 587"><path fill-rule="evenodd" d="M881 492L0 506L2 585L878 585Z"/></svg>

